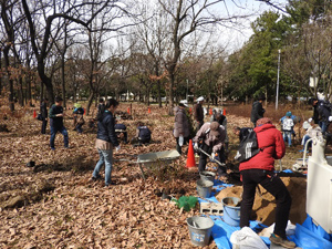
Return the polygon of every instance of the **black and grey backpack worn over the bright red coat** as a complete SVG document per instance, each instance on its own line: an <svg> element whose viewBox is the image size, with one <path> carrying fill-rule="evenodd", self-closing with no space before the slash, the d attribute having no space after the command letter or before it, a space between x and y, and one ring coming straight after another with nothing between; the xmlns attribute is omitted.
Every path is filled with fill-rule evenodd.
<svg viewBox="0 0 332 249"><path fill-rule="evenodd" d="M255 131L251 131L241 141L235 159L237 159L239 163L246 162L256 156L260 151L261 149L258 147L257 134Z"/></svg>

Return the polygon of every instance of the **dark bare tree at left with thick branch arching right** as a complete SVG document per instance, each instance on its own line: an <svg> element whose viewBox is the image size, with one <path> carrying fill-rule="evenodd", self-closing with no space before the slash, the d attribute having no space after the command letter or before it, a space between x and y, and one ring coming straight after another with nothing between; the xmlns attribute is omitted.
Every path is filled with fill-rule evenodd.
<svg viewBox="0 0 332 249"><path fill-rule="evenodd" d="M28 4L27 0L22 0L25 19L30 29L31 45L38 62L38 73L46 87L51 102L54 101L53 85L50 75L46 74L44 60L59 35L56 21L69 20L70 23L76 23L90 29L90 24L101 12L111 11L116 6L116 1L112 0L72 0L64 2L66 4L62 4L63 1L61 0L54 0L48 4L48 1L34 0ZM32 6L34 9L31 10ZM86 11L87 9L94 9L95 11ZM40 11L42 11L42 14L39 17L43 17L43 20L37 21L34 19ZM51 35L52 33L53 35Z"/></svg>

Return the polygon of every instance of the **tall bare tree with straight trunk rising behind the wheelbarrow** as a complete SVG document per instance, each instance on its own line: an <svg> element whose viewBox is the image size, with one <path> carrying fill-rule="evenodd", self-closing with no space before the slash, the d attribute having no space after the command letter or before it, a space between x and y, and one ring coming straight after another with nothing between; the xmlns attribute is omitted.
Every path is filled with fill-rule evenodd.
<svg viewBox="0 0 332 249"><path fill-rule="evenodd" d="M177 63L180 59L184 44L188 42L188 38L195 32L203 32L211 29L215 24L225 24L241 17L229 14L222 17L222 11L220 11L220 9L225 9L224 4L226 3L224 0L158 0L158 2L172 20L170 23L165 24L165 27L169 27L172 32L172 53L168 54L166 62L166 69L169 76L168 113L172 115L174 107L173 91L175 87Z"/></svg>

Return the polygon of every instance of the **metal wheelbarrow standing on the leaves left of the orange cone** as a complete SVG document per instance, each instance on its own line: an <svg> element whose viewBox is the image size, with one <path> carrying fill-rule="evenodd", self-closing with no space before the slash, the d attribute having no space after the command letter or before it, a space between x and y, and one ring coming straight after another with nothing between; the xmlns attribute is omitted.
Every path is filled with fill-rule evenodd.
<svg viewBox="0 0 332 249"><path fill-rule="evenodd" d="M156 153L147 153L137 156L137 164L142 172L142 177L145 180L145 175L143 170L143 165L146 168L152 168L153 165L158 164L159 166L167 166L173 160L177 159L180 154L177 151L164 151L164 152L156 152Z"/></svg>

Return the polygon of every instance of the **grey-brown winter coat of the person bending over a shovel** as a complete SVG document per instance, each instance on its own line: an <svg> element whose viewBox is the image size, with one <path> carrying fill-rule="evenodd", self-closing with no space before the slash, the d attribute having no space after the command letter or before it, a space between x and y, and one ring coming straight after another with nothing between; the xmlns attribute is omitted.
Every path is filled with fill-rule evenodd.
<svg viewBox="0 0 332 249"><path fill-rule="evenodd" d="M200 129L197 132L194 137L194 143L198 143L199 138L203 138L203 142L208 146L212 146L212 152L217 153L221 149L225 144L226 132L222 125L218 127L219 136L211 136L210 133L210 123L205 123Z"/></svg>

